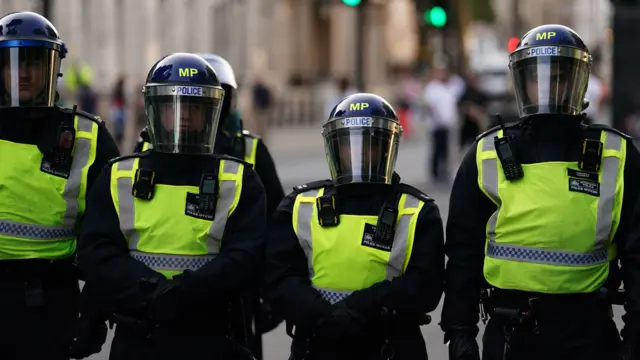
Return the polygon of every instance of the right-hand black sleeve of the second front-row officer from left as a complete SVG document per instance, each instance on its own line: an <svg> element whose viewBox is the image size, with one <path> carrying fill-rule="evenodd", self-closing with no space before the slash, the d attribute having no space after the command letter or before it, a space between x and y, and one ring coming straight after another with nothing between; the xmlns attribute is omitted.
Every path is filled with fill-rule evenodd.
<svg viewBox="0 0 640 360"><path fill-rule="evenodd" d="M224 300L253 283L264 263L265 198L260 178L245 167L242 193L227 221L220 254L200 269L185 272L188 293Z"/></svg>

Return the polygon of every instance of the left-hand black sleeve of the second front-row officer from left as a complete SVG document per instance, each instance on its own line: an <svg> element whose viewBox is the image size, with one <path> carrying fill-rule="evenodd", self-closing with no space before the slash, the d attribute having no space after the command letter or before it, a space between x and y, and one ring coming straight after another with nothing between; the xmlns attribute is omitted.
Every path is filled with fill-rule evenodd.
<svg viewBox="0 0 640 360"><path fill-rule="evenodd" d="M129 255L111 200L110 179L111 169L105 168L89 192L78 265L92 295L101 295L116 307L137 307L143 301L138 280L162 275Z"/></svg>

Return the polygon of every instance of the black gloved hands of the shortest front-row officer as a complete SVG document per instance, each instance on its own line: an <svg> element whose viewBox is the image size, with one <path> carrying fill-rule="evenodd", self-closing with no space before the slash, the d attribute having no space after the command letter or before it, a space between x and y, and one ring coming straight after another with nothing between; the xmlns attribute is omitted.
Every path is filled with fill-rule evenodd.
<svg viewBox="0 0 640 360"><path fill-rule="evenodd" d="M319 322L315 336L334 339L362 337L367 323L362 314L349 308L346 302L340 301L333 304L329 316Z"/></svg>

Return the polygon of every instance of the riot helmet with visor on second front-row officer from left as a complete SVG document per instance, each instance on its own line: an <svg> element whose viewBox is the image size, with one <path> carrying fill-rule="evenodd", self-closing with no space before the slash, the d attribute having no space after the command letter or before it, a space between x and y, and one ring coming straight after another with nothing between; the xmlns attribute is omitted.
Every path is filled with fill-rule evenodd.
<svg viewBox="0 0 640 360"><path fill-rule="evenodd" d="M151 68L143 91L156 151L213 153L224 90L211 65L194 54L168 55Z"/></svg>

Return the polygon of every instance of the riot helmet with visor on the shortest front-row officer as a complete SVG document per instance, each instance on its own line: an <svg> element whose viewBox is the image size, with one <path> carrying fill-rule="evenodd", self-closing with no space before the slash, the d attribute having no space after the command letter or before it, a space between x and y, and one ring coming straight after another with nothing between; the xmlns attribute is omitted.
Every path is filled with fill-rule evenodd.
<svg viewBox="0 0 640 360"><path fill-rule="evenodd" d="M402 127L386 100L366 93L345 98L331 111L322 135L335 185L391 184Z"/></svg>

